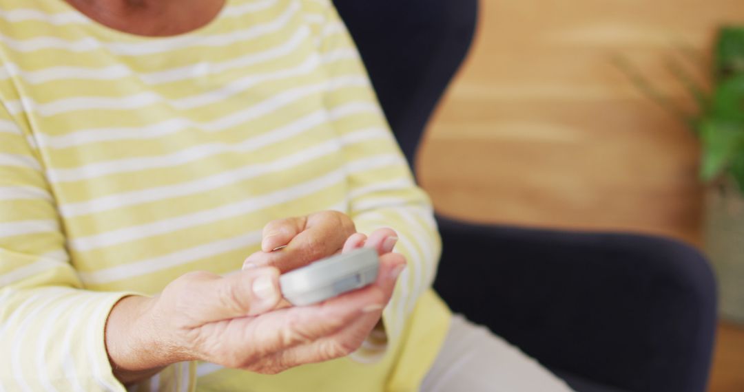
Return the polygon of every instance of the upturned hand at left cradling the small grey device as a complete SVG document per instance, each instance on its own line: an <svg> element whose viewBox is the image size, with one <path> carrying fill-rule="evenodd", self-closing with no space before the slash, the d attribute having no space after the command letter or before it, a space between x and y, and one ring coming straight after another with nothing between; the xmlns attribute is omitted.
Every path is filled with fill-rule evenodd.
<svg viewBox="0 0 744 392"><path fill-rule="evenodd" d="M106 323L115 376L136 382L175 362L202 360L257 373L346 356L364 342L392 295L405 258L380 256L377 281L307 307L277 307L279 272L260 267L225 277L191 272L155 298L121 300Z"/></svg>

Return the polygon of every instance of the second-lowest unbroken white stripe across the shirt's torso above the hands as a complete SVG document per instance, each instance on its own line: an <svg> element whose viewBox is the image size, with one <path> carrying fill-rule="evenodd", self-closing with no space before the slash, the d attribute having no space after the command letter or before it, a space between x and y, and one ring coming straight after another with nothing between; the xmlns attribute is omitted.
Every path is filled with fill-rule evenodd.
<svg viewBox="0 0 744 392"><path fill-rule="evenodd" d="M343 144L344 143L342 143L342 145ZM151 203L153 201L166 200L173 197L184 197L196 193L209 192L263 174L290 169L336 151L339 151L339 142L337 140L329 140L298 151L295 154L287 155L279 160L269 163L257 163L254 165L241 166L238 169L223 171L209 177L199 178L186 183L179 183L170 186L158 186L141 191L124 192L116 195L86 200L80 203L62 204L60 205L60 213L65 218L74 218L76 216L103 212L109 209L118 209L125 206L135 206L141 203Z"/></svg>

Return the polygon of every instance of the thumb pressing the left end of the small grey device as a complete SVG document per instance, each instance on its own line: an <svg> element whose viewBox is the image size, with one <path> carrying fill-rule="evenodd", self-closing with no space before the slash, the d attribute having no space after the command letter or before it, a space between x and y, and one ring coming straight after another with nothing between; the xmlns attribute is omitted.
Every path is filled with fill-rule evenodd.
<svg viewBox="0 0 744 392"><path fill-rule="evenodd" d="M279 270L254 268L211 281L205 302L211 304L206 316L213 321L255 316L274 309L281 299Z"/></svg>

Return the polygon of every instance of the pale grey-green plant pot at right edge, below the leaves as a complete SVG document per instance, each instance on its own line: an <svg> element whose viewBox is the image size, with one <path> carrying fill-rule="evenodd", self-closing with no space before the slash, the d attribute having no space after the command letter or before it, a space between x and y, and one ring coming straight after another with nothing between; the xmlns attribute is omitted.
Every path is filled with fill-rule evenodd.
<svg viewBox="0 0 744 392"><path fill-rule="evenodd" d="M706 195L705 250L716 271L719 313L744 324L744 197L733 186Z"/></svg>

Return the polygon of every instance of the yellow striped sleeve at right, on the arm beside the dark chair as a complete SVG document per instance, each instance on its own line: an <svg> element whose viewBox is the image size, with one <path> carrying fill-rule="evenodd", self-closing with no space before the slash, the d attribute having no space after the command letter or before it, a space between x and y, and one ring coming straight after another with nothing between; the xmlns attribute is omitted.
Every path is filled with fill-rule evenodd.
<svg viewBox="0 0 744 392"><path fill-rule="evenodd" d="M318 7L324 8L315 18L318 45L332 81L325 99L344 144L351 217L359 232L395 229L400 238L395 250L408 260L383 313L388 337L396 339L420 295L431 288L440 238L429 197L414 183L349 33L329 2ZM344 115L336 116L339 111Z"/></svg>

